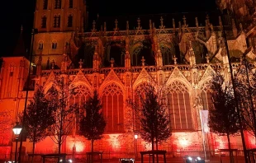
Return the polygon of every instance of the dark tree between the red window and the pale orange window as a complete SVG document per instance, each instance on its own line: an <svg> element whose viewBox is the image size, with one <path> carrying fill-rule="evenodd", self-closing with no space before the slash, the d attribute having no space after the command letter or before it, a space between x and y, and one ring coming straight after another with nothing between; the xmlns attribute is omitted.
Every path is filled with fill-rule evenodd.
<svg viewBox="0 0 256 163"><path fill-rule="evenodd" d="M171 124L166 111L166 105L161 102L159 94L154 86L148 86L143 93L140 94L138 101L128 101L128 104L134 109L135 114L139 114L141 132L140 135L145 142L154 144L158 150L158 144L164 142L172 135ZM154 161L154 156L153 156Z"/></svg>

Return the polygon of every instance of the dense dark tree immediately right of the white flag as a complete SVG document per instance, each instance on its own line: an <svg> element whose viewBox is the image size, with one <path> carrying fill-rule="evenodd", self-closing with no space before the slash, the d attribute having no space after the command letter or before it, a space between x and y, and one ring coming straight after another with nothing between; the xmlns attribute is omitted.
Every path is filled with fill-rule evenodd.
<svg viewBox="0 0 256 163"><path fill-rule="evenodd" d="M230 150L230 136L239 132L234 91L220 74L212 77L211 91L213 106L209 110L209 127L214 133L226 135ZM230 151L230 162L233 161L233 153Z"/></svg>

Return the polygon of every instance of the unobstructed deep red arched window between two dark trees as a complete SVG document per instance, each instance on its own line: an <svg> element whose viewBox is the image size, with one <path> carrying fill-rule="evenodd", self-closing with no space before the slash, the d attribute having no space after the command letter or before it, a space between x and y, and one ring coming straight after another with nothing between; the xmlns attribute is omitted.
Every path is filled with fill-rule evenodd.
<svg viewBox="0 0 256 163"><path fill-rule="evenodd" d="M102 92L102 109L107 120L107 133L124 132L124 100L119 86L112 83Z"/></svg>

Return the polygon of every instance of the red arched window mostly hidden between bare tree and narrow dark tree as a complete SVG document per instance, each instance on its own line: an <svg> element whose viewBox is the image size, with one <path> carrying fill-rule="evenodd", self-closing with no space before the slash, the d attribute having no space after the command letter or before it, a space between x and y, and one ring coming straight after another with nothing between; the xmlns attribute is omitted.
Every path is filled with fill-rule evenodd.
<svg viewBox="0 0 256 163"><path fill-rule="evenodd" d="M75 116L75 120L73 122L73 133L79 134L79 114L85 114L83 112L83 105L85 103L86 100L88 100L89 95L91 95L91 92L89 91L87 86L83 86L83 85L78 85L76 86L77 88L77 93L75 95L72 95L70 97L70 101L69 103L71 105L73 104L77 104L79 107L79 112L77 113L73 113Z"/></svg>

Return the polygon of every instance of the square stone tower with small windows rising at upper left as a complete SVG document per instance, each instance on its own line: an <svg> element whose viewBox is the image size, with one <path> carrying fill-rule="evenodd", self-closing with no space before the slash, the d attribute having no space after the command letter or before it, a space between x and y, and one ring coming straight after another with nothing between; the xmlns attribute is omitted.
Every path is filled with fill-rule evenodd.
<svg viewBox="0 0 256 163"><path fill-rule="evenodd" d="M72 57L73 35L83 31L87 21L87 7L83 0L36 1L33 41L33 62L41 59L42 68L60 68L63 54ZM74 52L75 53L75 52Z"/></svg>

